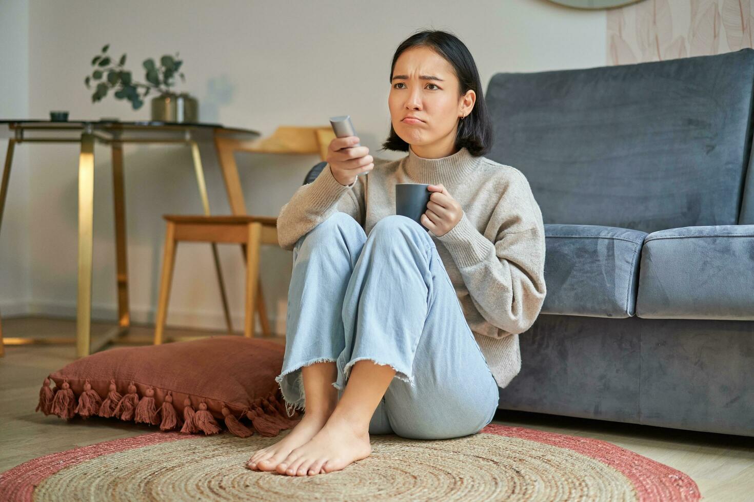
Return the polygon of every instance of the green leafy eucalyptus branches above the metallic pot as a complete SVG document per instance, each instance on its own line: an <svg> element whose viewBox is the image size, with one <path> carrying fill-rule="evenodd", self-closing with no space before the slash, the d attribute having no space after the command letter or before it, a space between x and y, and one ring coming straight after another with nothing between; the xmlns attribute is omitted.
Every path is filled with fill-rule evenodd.
<svg viewBox="0 0 754 502"><path fill-rule="evenodd" d="M127 99L131 102L134 110L138 110L144 104L144 98L149 92L154 90L157 93L170 93L171 87L175 84L174 78L179 75L185 82L185 77L179 71L182 60L178 59L178 53L175 56L165 55L160 58L160 65L155 63L152 58L144 59L142 63L146 70L146 83L134 81L131 72L124 68L126 64L126 55L123 54L117 63L107 50L110 44L102 48L102 52L94 56L92 66L94 70L91 75L84 78L84 84L87 89L94 87L92 102L101 101L110 90L115 90L116 99Z"/></svg>

